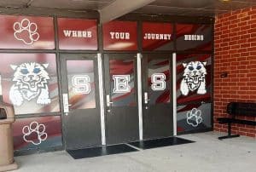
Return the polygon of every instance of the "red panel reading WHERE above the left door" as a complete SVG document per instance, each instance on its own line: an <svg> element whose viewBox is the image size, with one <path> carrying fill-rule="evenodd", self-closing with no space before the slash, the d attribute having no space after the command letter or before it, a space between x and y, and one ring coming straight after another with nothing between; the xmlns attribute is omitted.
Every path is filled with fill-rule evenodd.
<svg viewBox="0 0 256 172"><path fill-rule="evenodd" d="M98 49L96 20L58 19L60 49Z"/></svg>

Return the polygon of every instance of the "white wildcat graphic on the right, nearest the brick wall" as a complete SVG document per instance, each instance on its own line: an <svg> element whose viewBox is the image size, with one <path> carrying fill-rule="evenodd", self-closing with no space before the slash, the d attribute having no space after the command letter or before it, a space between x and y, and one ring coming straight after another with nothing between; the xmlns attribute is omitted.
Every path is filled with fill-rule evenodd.
<svg viewBox="0 0 256 172"><path fill-rule="evenodd" d="M197 94L204 95L207 93L206 89L206 75L207 62L191 61L189 63L183 63L185 67L183 73L183 80L180 84L180 90L182 95L189 95L189 91L195 91Z"/></svg>

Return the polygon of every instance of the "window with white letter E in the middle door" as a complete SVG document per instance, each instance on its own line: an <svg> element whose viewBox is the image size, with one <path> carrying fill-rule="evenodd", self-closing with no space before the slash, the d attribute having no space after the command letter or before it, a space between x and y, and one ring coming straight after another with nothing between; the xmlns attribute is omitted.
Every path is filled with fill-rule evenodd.
<svg viewBox="0 0 256 172"><path fill-rule="evenodd" d="M136 106L134 60L109 60L112 106Z"/></svg>

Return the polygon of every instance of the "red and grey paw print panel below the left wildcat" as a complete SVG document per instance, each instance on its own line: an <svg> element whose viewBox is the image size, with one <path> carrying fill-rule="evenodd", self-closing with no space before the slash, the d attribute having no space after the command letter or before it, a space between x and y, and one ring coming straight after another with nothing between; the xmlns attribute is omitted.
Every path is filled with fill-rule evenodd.
<svg viewBox="0 0 256 172"><path fill-rule="evenodd" d="M61 117L18 118L13 136L15 151L62 146Z"/></svg>

